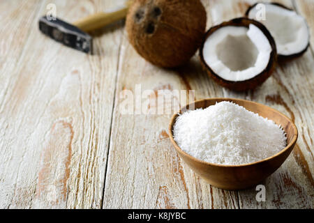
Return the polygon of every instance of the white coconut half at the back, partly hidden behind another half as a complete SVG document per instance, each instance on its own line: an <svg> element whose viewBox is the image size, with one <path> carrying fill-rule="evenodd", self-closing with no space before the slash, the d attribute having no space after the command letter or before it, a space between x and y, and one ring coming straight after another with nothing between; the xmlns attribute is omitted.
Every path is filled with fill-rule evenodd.
<svg viewBox="0 0 314 223"><path fill-rule="evenodd" d="M246 16L264 24L274 37L278 56L300 56L308 48L310 32L306 20L278 3L256 3Z"/></svg>

